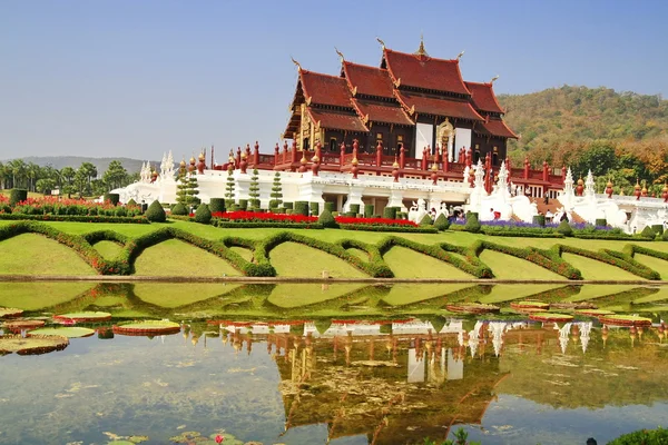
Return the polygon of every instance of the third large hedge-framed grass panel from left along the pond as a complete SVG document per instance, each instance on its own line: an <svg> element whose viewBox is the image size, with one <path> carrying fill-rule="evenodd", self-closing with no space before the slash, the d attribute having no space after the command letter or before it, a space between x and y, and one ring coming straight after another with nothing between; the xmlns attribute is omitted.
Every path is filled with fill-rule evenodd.
<svg viewBox="0 0 668 445"><path fill-rule="evenodd" d="M279 277L322 277L327 270L335 278L365 278L362 270L354 268L341 258L296 243L283 243L271 253L272 265Z"/></svg>

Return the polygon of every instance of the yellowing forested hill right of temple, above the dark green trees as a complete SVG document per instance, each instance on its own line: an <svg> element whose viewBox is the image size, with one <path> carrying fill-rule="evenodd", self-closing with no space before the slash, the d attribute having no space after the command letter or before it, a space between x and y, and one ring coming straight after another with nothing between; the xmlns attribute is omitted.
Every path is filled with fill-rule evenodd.
<svg viewBox="0 0 668 445"><path fill-rule="evenodd" d="M597 139L620 148L668 138L668 100L658 95L564 86L530 95L499 95L499 101L507 109L505 121L521 135L511 144L515 159L529 151L530 158L542 161L544 156L559 155L556 147L581 149Z"/></svg>

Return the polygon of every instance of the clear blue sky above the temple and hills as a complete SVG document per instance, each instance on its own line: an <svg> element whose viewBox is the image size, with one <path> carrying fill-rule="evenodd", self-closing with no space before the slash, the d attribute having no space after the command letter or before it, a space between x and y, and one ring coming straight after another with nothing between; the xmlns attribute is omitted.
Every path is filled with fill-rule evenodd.
<svg viewBox="0 0 668 445"><path fill-rule="evenodd" d="M0 159L159 159L257 139L271 151L296 70L389 48L465 50L498 93L561 85L668 96L668 1L0 0Z"/></svg>

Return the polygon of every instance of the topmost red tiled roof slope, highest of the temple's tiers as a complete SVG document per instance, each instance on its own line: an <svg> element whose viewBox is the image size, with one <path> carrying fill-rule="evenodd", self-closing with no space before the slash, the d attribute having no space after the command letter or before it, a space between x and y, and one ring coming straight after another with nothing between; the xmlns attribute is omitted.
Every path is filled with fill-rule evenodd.
<svg viewBox="0 0 668 445"><path fill-rule="evenodd" d="M434 59L391 49L384 49L383 59L394 80L400 80L401 85L470 95L462 80L458 60Z"/></svg>

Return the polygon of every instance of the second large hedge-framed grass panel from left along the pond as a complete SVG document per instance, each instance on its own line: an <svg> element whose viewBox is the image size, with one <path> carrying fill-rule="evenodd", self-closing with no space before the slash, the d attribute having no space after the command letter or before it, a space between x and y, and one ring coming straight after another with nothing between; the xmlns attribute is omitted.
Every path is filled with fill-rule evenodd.
<svg viewBox="0 0 668 445"><path fill-rule="evenodd" d="M226 260L178 239L169 239L144 250L135 263L135 274L160 277L242 275Z"/></svg>

